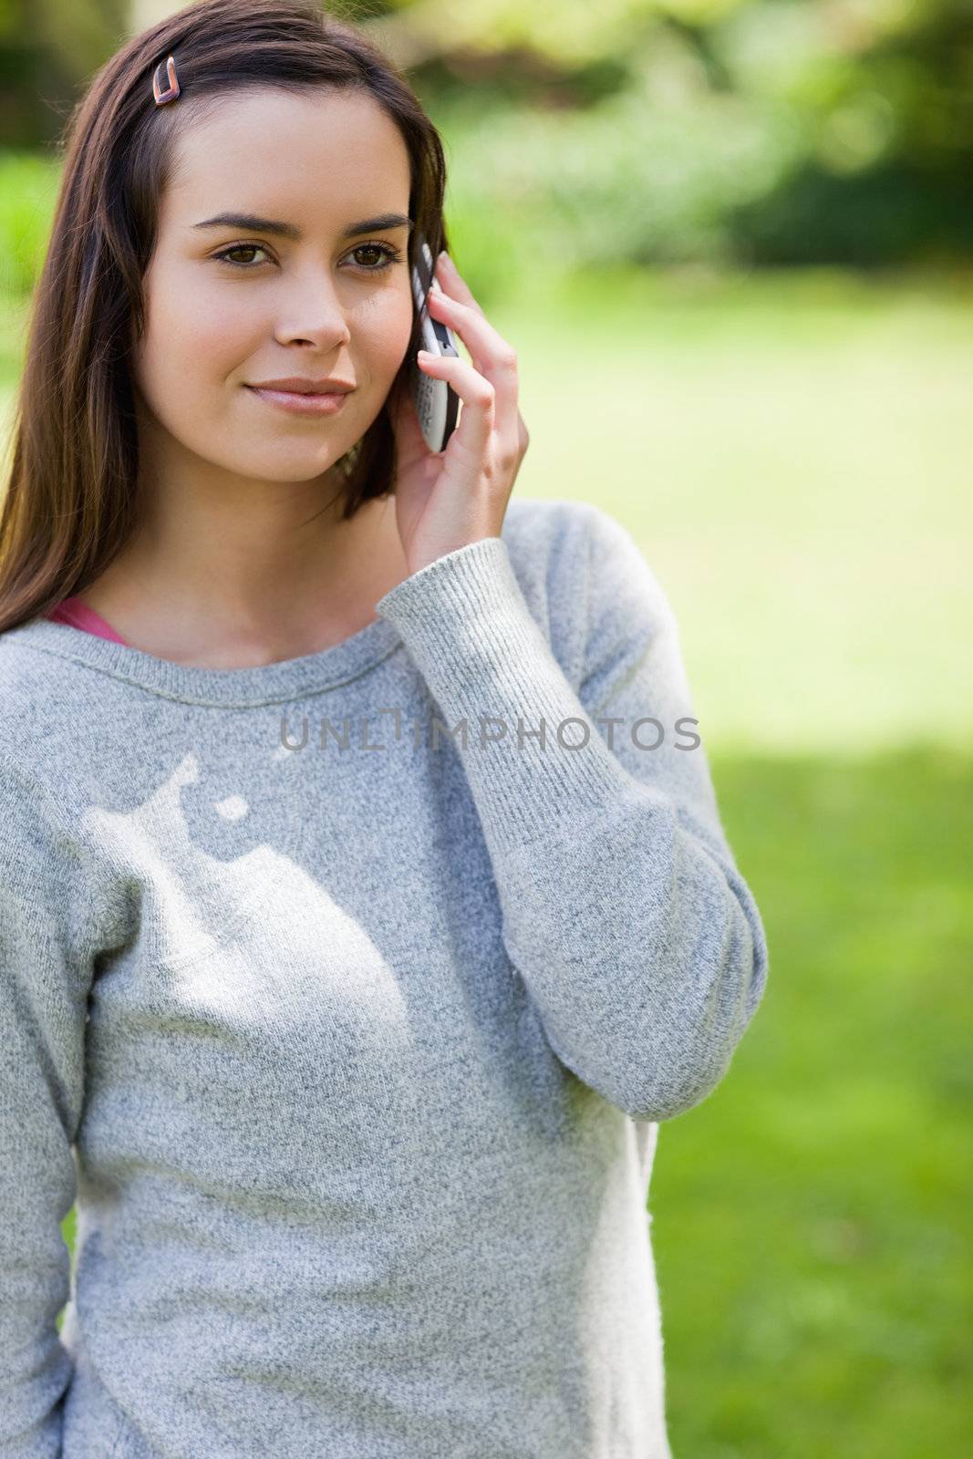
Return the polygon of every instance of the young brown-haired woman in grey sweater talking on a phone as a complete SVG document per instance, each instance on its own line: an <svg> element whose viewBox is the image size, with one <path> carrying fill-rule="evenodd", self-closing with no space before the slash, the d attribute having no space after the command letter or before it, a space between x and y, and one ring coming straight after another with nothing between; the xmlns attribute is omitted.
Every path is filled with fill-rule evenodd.
<svg viewBox="0 0 973 1459"><path fill-rule="evenodd" d="M665 595L511 500L516 356L445 254L422 438L443 182L287 0L73 118L0 519L3 1453L670 1453L658 1122L767 948Z"/></svg>

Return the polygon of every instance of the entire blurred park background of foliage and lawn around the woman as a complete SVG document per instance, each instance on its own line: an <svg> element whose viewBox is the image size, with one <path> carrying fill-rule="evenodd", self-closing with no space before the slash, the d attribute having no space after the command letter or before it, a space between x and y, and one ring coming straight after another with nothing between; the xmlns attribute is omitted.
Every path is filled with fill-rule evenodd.
<svg viewBox="0 0 973 1459"><path fill-rule="evenodd" d="M0 0L4 435L53 139L127 31L172 9ZM519 355L515 490L614 514L670 595L767 929L726 1080L659 1135L674 1455L958 1459L973 12L331 9L407 69L446 142L454 257Z"/></svg>

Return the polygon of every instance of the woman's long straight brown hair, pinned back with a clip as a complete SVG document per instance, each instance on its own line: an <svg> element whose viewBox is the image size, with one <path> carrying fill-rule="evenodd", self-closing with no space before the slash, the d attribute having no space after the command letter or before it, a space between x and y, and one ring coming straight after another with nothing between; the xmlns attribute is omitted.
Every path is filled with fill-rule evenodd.
<svg viewBox="0 0 973 1459"><path fill-rule="evenodd" d="M371 93L408 152L417 235L448 248L445 156L436 127L394 63L353 25L309 0L197 0L130 39L71 112L47 258L38 280L0 509L0 633L82 592L139 521L133 384L144 330L143 277L155 248L184 98L156 107L152 77L177 57L185 104L255 86ZM165 73L165 66L162 67ZM163 76L165 85L165 76ZM392 392L422 343L413 337ZM391 490L395 441L385 409L338 463L341 515Z"/></svg>

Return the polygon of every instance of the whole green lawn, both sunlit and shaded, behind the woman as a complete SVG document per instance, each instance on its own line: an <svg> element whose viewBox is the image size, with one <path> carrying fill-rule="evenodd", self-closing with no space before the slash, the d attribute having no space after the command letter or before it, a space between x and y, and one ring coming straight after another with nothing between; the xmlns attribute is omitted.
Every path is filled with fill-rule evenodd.
<svg viewBox="0 0 973 1459"><path fill-rule="evenodd" d="M602 505L670 594L770 944L726 1080L659 1135L675 1459L958 1459L973 282L604 274L487 312L515 490Z"/></svg>

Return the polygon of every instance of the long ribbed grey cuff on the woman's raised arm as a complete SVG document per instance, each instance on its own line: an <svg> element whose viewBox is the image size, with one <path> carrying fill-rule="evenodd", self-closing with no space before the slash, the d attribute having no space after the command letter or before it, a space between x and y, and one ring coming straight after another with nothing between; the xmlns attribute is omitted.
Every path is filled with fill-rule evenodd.
<svg viewBox="0 0 973 1459"><path fill-rule="evenodd" d="M630 788L531 616L503 538L446 553L379 598L376 611L426 680L442 735L467 721L465 746L460 730L451 738L493 849L524 845Z"/></svg>

